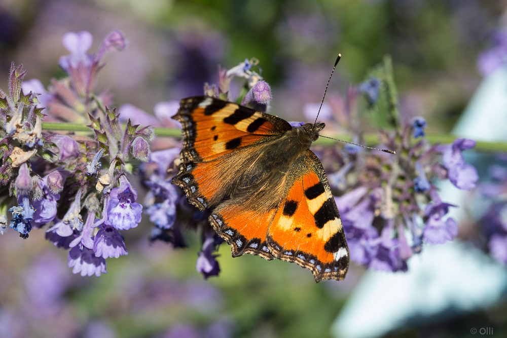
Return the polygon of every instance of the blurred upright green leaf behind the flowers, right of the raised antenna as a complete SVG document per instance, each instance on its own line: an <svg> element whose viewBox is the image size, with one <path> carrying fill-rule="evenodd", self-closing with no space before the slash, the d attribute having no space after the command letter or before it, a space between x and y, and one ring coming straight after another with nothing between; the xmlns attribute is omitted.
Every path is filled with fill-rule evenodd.
<svg viewBox="0 0 507 338"><path fill-rule="evenodd" d="M377 102L373 104L368 102L366 116L375 128L395 129L400 125L400 114L390 55L385 55L381 63L368 71L366 80L371 78L377 78L382 84Z"/></svg>

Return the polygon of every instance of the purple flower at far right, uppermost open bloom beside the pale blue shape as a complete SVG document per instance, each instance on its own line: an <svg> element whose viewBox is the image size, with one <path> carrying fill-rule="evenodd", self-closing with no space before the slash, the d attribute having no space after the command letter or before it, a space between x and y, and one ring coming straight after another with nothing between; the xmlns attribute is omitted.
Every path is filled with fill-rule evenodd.
<svg viewBox="0 0 507 338"><path fill-rule="evenodd" d="M442 145L438 149L442 153L442 162L447 168L449 180L462 190L473 189L479 175L474 166L465 163L462 151L475 147L476 142L466 138L458 138L452 144Z"/></svg>

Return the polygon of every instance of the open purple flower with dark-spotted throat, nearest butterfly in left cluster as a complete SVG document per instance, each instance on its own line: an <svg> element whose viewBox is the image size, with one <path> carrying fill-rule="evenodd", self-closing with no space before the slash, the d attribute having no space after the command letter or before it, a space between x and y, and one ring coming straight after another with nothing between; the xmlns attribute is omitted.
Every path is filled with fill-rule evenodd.
<svg viewBox="0 0 507 338"><path fill-rule="evenodd" d="M107 209L107 224L118 230L137 227L141 221L142 205L135 203L137 190L122 176L120 186L111 190L111 201Z"/></svg>

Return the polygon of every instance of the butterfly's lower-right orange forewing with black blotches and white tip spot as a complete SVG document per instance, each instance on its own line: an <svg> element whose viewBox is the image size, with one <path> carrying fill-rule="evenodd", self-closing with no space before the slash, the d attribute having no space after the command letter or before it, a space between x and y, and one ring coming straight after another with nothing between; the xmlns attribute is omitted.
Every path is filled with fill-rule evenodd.
<svg viewBox="0 0 507 338"><path fill-rule="evenodd" d="M279 259L310 269L315 280L342 280L349 252L340 214L318 158L307 151L289 173L287 194L268 231L268 245Z"/></svg>

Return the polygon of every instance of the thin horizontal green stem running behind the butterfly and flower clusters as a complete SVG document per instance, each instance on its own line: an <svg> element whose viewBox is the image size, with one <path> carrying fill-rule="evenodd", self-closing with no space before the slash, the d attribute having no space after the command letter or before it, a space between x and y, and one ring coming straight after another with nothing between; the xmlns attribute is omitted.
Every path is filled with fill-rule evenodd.
<svg viewBox="0 0 507 338"><path fill-rule="evenodd" d="M61 130L61 131L83 131L83 132L91 132L91 129L86 125L80 125L75 123L60 123L60 122L43 122L42 123L43 130ZM182 131L175 128L153 128L155 134L160 137L181 137ZM335 138L342 139L344 141L351 141L352 138L349 135L337 135ZM378 144L378 135L376 134L365 134L365 141L367 145L376 145ZM426 139L431 143L442 143L448 144L452 143L457 136L449 135L449 134L428 134L426 135ZM329 138L319 138L315 144L321 145L331 145L336 144L337 141L329 139ZM476 150L482 152L507 152L507 143L505 142L484 142L477 141L477 145L475 147Z"/></svg>

